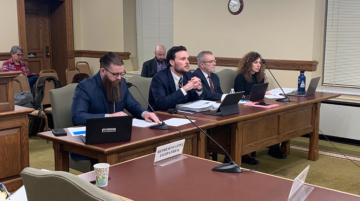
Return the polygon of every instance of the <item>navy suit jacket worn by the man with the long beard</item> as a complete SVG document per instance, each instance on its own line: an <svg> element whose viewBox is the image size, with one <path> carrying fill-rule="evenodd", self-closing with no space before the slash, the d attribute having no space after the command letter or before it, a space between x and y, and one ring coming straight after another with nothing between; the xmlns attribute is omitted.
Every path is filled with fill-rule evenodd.
<svg viewBox="0 0 360 201"><path fill-rule="evenodd" d="M122 99L115 103L115 112L123 111L124 108L135 118L140 118L144 111L127 88L126 81L122 81ZM94 76L80 82L75 89L71 105L71 120L74 126L86 125L86 118L104 117L105 114L113 113L109 111L109 102L101 88L102 79L100 71Z"/></svg>

